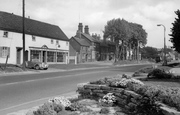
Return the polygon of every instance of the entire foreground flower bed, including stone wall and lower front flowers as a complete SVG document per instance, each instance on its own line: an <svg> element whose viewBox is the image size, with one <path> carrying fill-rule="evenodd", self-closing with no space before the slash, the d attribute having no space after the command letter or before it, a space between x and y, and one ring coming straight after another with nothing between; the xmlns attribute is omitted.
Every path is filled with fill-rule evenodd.
<svg viewBox="0 0 180 115"><path fill-rule="evenodd" d="M77 92L77 98L55 97L26 115L180 114L162 104L179 110L180 89L147 86L126 75L79 84Z"/></svg>

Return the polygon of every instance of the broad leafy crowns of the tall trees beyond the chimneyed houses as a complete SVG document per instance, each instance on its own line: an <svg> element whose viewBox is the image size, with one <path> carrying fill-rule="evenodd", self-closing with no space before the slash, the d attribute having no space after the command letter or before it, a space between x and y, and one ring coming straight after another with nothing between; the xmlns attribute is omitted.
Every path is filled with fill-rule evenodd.
<svg viewBox="0 0 180 115"><path fill-rule="evenodd" d="M143 45L147 43L147 33L142 25L129 23L120 18L112 19L107 22L107 25L104 28L104 39L107 38L110 38L111 41L115 42L115 61L121 57L124 58L125 46L138 46L138 41L141 41Z"/></svg>

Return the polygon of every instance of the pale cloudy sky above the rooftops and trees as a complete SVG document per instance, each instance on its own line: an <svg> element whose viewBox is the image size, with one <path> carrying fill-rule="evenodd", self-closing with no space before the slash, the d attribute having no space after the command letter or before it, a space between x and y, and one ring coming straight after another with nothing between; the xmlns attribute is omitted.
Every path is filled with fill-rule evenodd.
<svg viewBox="0 0 180 115"><path fill-rule="evenodd" d="M180 0L25 0L25 16L59 26L68 38L79 23L103 37L107 21L123 18L143 26L146 46L163 48L164 27L157 24L165 26L166 45L172 46L169 34L179 6ZM22 0L0 0L0 11L22 15Z"/></svg>

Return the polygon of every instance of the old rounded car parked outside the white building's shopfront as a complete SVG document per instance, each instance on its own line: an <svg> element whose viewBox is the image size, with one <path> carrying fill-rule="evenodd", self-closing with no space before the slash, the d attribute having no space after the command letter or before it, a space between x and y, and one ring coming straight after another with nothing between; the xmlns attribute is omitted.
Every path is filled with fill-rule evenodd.
<svg viewBox="0 0 180 115"><path fill-rule="evenodd" d="M36 70L40 70L40 69L47 70L48 64L44 62L39 62L39 61L26 61L26 67L33 68Z"/></svg>

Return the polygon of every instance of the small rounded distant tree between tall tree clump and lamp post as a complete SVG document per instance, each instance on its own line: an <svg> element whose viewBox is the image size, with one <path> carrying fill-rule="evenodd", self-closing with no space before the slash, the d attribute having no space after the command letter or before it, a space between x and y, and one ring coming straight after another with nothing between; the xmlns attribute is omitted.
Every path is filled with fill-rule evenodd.
<svg viewBox="0 0 180 115"><path fill-rule="evenodd" d="M141 49L141 55L142 58L155 59L159 56L159 52L157 48L147 46Z"/></svg>

